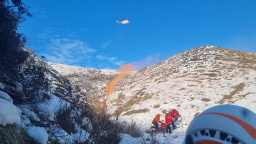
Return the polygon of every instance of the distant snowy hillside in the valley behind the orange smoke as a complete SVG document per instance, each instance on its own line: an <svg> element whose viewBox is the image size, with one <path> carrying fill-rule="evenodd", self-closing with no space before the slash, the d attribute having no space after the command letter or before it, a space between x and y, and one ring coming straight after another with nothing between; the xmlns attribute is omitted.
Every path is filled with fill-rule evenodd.
<svg viewBox="0 0 256 144"><path fill-rule="evenodd" d="M106 95L107 85L118 75L114 69L93 69L62 65L48 62L61 75L68 78L73 85L78 85L85 93L85 102L101 105Z"/></svg>

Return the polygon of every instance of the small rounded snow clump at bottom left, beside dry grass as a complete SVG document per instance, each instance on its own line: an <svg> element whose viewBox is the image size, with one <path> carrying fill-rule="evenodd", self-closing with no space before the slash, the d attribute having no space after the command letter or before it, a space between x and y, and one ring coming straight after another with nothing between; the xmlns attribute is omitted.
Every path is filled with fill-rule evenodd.
<svg viewBox="0 0 256 144"><path fill-rule="evenodd" d="M30 126L28 128L28 135L40 144L47 144L49 135L44 127Z"/></svg>

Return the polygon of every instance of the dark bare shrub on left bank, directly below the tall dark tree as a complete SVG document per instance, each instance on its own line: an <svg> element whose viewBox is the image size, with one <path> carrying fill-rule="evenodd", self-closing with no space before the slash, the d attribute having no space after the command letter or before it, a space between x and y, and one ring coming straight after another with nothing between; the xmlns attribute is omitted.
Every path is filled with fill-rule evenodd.
<svg viewBox="0 0 256 144"><path fill-rule="evenodd" d="M47 103L51 100L50 82L47 77L47 63L45 61L36 61L37 56L31 54L20 68L20 81L23 85L24 97L22 102L36 104L39 102ZM26 78L24 78L26 77Z"/></svg>

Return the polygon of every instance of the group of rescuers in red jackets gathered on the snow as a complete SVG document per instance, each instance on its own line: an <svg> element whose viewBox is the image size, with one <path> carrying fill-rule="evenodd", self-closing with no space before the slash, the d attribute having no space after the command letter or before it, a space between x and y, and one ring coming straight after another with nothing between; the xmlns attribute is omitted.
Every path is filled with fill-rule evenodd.
<svg viewBox="0 0 256 144"><path fill-rule="evenodd" d="M155 118L152 121L152 124L154 126L151 126L151 129L156 129L156 130L160 130L163 131L165 130L166 133L172 133L172 129L171 129L171 125L173 127L173 130L177 128L177 126L174 124L178 118L180 117L179 112L176 109L171 109L169 110L166 115L165 115L165 122L164 121L160 121L160 116L161 114L157 114L155 116ZM159 124L161 124L161 126L159 127ZM164 132L164 131L163 131Z"/></svg>

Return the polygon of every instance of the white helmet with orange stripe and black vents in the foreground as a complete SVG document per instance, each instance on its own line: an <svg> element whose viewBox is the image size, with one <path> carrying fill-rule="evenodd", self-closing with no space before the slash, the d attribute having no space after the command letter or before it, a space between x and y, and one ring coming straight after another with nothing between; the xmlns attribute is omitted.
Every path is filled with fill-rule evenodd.
<svg viewBox="0 0 256 144"><path fill-rule="evenodd" d="M191 121L183 143L256 143L256 114L235 105L206 109Z"/></svg>

